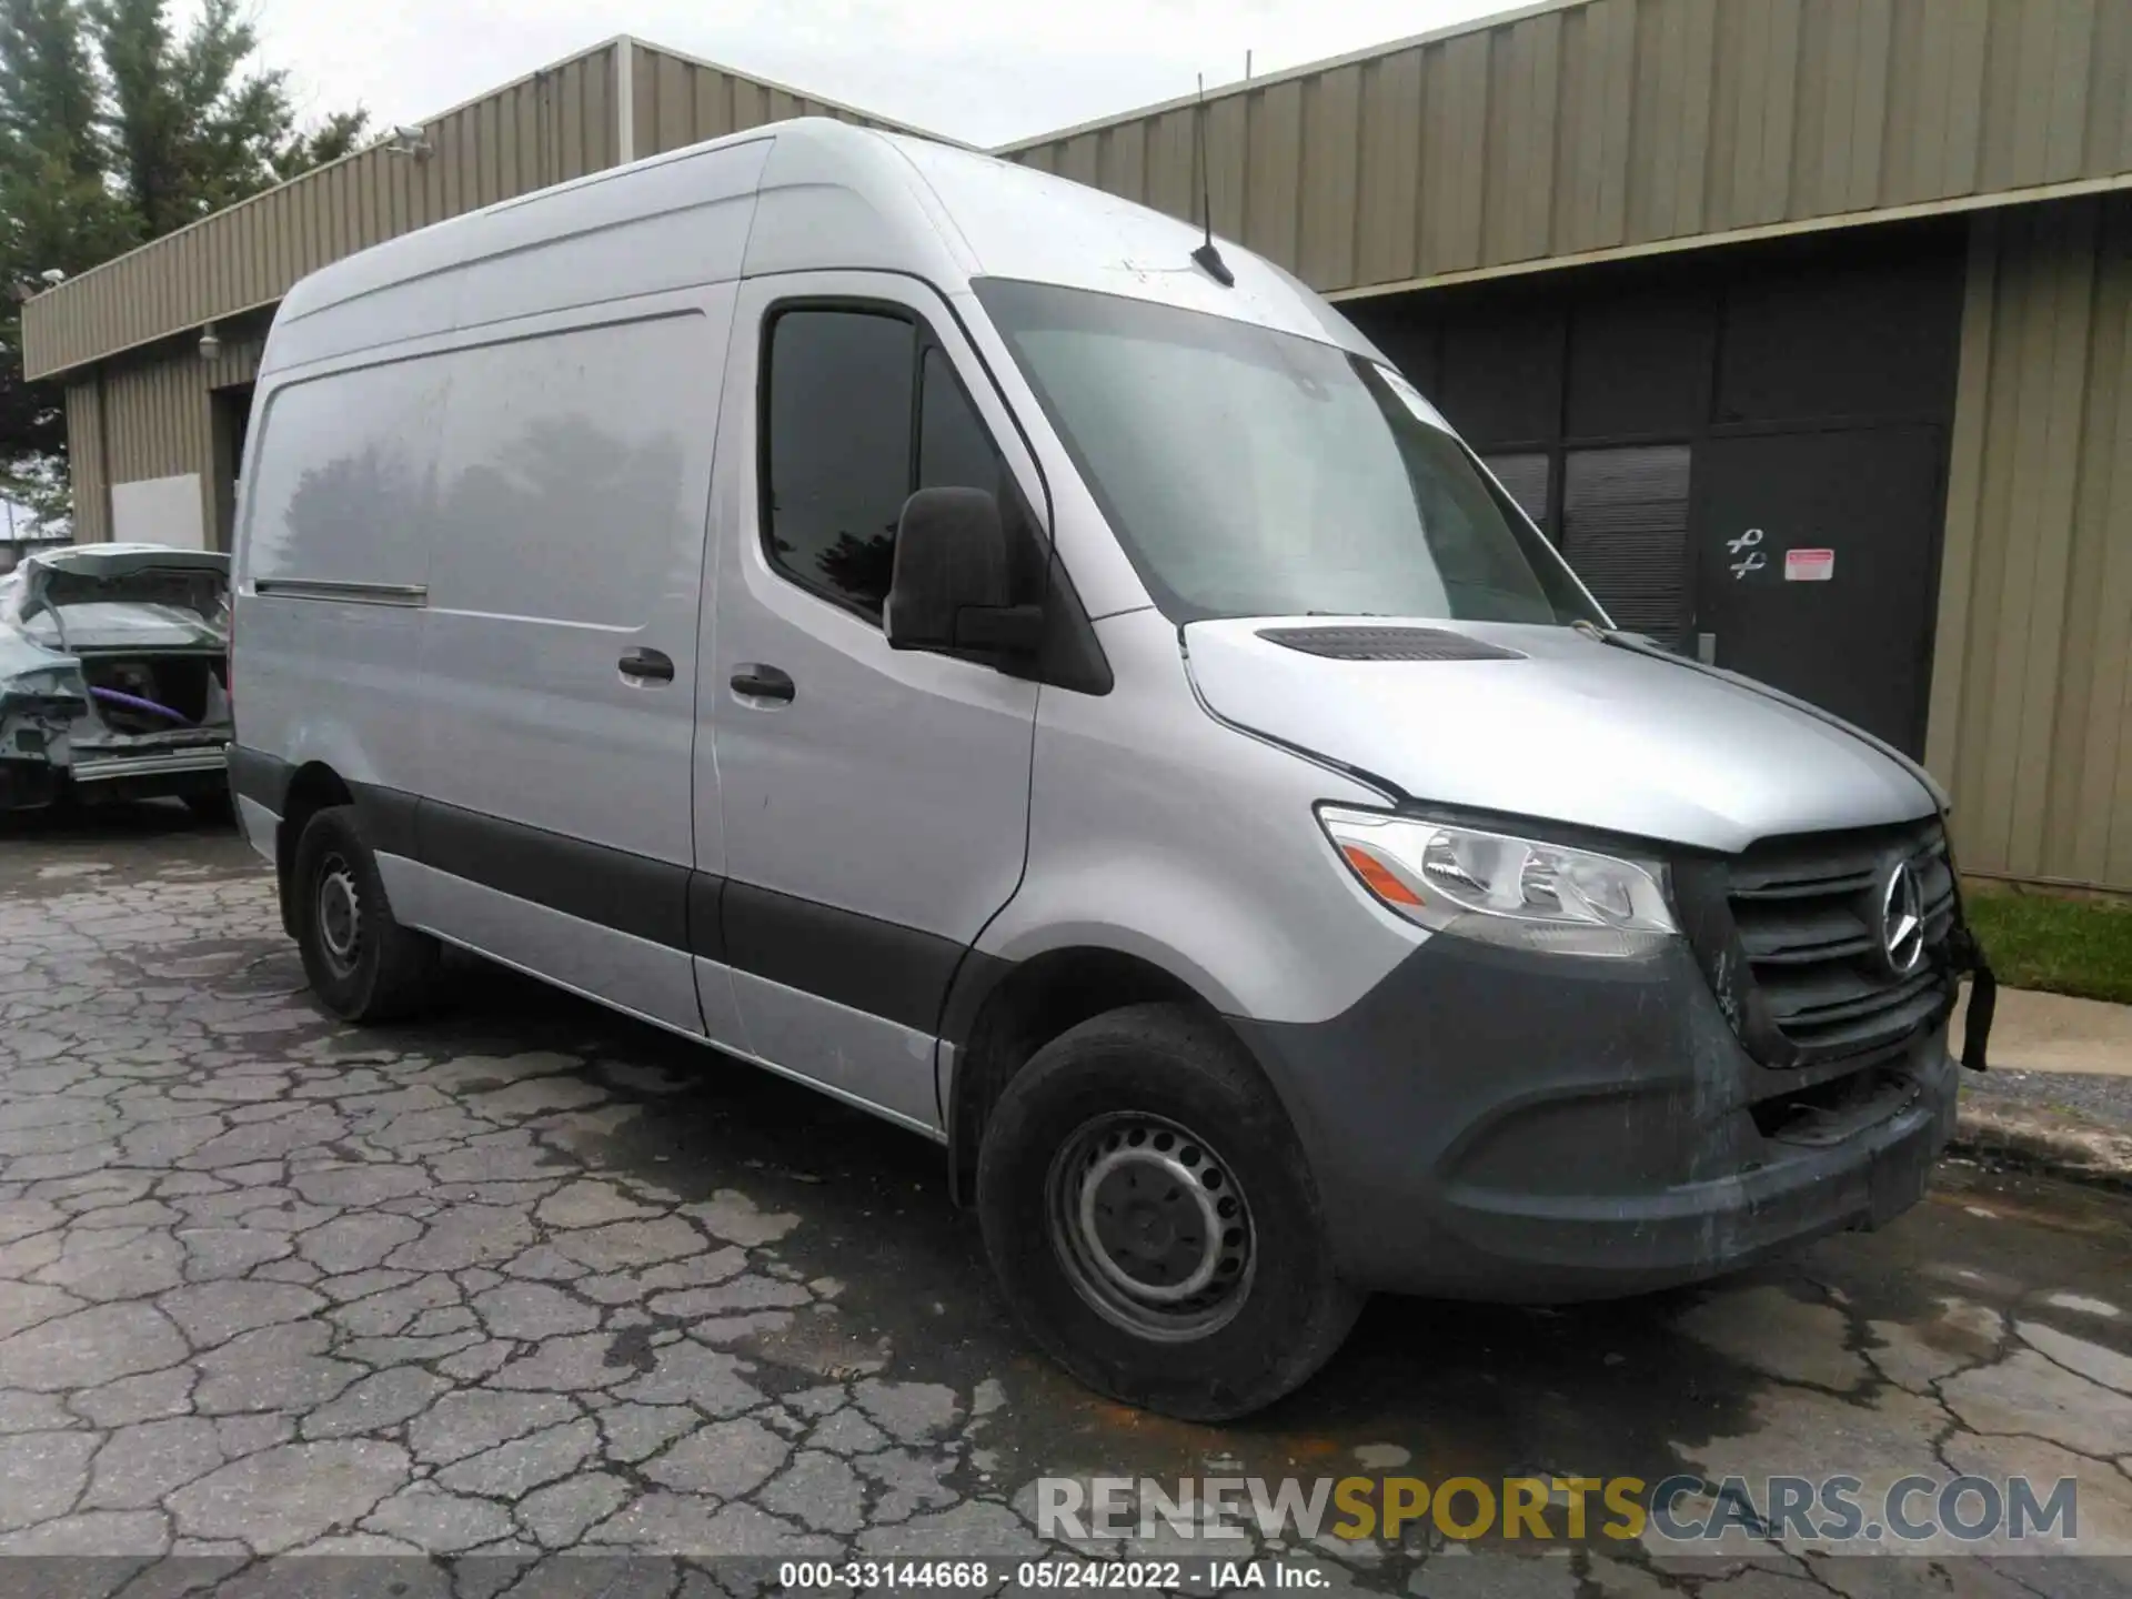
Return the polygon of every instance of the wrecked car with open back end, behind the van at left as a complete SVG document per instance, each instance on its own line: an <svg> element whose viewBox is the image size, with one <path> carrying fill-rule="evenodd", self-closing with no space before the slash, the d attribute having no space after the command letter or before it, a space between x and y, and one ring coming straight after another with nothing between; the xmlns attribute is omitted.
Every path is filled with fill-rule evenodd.
<svg viewBox="0 0 2132 1599"><path fill-rule="evenodd" d="M0 578L0 810L228 812L230 559L72 544Z"/></svg>

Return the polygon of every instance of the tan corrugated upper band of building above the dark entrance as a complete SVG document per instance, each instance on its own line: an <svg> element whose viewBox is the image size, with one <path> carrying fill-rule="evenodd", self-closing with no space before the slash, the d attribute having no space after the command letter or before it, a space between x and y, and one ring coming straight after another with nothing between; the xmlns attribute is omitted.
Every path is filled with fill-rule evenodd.
<svg viewBox="0 0 2132 1599"><path fill-rule="evenodd" d="M1196 215L1194 107L1011 154ZM1558 0L1209 96L1217 232L1326 292L2132 177L2128 0Z"/></svg>

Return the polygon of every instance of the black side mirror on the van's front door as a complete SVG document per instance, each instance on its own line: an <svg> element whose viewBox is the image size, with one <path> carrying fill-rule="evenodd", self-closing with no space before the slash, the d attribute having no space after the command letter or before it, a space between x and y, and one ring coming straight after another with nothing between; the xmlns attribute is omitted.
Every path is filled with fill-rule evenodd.
<svg viewBox="0 0 2132 1599"><path fill-rule="evenodd" d="M893 650L1030 652L1043 605L1008 603L1006 529L983 488L921 488L895 524L883 625Z"/></svg>

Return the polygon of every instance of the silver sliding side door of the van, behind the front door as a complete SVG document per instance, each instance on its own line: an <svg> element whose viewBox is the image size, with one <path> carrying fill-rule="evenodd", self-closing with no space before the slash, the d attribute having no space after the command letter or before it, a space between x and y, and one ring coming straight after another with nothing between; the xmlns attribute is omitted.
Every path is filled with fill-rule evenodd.
<svg viewBox="0 0 2132 1599"><path fill-rule="evenodd" d="M424 644L429 919L693 1032L695 652L731 301L441 356Z"/></svg>

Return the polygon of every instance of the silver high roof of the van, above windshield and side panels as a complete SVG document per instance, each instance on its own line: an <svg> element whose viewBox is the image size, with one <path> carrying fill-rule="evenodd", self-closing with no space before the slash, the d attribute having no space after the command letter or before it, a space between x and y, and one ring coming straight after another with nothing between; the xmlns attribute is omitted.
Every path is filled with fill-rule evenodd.
<svg viewBox="0 0 2132 1599"><path fill-rule="evenodd" d="M661 247L614 235L659 228ZM991 156L804 117L610 168L403 235L298 281L264 371L721 277L861 269L944 294L972 277L1064 284L1371 352L1309 288L1188 224ZM623 247L616 247L623 245Z"/></svg>

